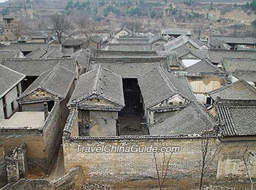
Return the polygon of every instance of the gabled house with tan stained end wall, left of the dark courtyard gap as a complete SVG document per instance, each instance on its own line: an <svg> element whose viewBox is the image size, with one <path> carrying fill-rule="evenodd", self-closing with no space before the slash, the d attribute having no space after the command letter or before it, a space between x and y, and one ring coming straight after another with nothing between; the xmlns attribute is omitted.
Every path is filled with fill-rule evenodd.
<svg viewBox="0 0 256 190"><path fill-rule="evenodd" d="M124 106L121 76L101 66L80 76L69 101L69 108L78 110L80 136L116 135Z"/></svg>

